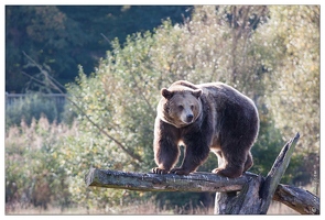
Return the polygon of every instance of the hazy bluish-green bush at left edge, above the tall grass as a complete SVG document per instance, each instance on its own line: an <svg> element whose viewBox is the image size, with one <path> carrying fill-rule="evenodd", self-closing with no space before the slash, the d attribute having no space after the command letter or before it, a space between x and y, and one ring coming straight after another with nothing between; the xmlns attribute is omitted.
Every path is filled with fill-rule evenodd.
<svg viewBox="0 0 325 220"><path fill-rule="evenodd" d="M58 108L56 103L41 94L28 94L6 106L6 129L19 125L21 119L24 119L26 124L31 124L33 118L39 120L42 114L46 116L50 122L57 120Z"/></svg>

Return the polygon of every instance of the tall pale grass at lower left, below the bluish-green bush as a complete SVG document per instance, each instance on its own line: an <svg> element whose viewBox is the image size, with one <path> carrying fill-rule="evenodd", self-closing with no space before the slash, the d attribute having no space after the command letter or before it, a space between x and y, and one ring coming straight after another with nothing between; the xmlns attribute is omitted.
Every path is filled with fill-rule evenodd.
<svg viewBox="0 0 325 220"><path fill-rule="evenodd" d="M76 123L50 123L44 116L6 131L6 208L71 204L68 175L59 157L69 136L78 136Z"/></svg>

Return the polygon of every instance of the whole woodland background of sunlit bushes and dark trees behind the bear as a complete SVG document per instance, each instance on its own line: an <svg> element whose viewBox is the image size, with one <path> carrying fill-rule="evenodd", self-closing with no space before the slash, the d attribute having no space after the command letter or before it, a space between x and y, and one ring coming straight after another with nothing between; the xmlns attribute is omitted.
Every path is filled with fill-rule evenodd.
<svg viewBox="0 0 325 220"><path fill-rule="evenodd" d="M178 79L224 81L256 102L253 173L266 175L300 132L282 183L318 195L319 43L319 6L7 6L6 91L29 95L6 106L7 212L210 207L212 194L84 184L90 166L154 166L159 91ZM56 92L64 106L42 96ZM210 155L199 170L216 164Z"/></svg>

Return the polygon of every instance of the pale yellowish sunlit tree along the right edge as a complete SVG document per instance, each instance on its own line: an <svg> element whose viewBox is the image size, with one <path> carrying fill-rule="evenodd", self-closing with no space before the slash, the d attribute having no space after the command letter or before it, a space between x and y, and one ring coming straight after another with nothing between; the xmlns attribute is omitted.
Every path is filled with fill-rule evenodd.
<svg viewBox="0 0 325 220"><path fill-rule="evenodd" d="M262 28L274 47L272 74L264 78L266 101L283 140L302 133L299 154L307 178L319 174L319 7L270 7ZM303 182L303 179L297 179Z"/></svg>

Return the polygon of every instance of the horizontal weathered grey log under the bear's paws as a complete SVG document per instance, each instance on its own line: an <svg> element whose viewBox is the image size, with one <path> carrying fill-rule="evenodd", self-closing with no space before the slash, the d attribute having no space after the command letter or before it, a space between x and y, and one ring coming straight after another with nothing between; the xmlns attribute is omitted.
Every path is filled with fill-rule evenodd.
<svg viewBox="0 0 325 220"><path fill-rule="evenodd" d="M142 174L90 168L86 175L87 186L120 188L143 191L237 191L242 188L250 176L245 174L238 178L226 178L212 173Z"/></svg>

